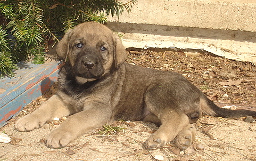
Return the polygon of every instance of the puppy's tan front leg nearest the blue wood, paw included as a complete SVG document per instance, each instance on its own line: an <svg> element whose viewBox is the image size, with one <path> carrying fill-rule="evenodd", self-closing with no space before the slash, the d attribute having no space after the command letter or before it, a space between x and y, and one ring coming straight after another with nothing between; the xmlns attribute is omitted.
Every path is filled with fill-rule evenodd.
<svg viewBox="0 0 256 161"><path fill-rule="evenodd" d="M53 95L33 113L18 119L14 129L18 131L31 131L40 128L47 121L55 117L68 116L71 113L73 112L68 109L62 99L58 95Z"/></svg>

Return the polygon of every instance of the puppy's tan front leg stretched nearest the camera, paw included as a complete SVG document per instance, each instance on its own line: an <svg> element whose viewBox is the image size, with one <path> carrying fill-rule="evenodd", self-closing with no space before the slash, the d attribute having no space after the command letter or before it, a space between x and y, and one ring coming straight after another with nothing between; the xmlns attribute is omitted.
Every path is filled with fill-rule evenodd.
<svg viewBox="0 0 256 161"><path fill-rule="evenodd" d="M51 148L65 147L80 135L111 123L111 114L106 106L99 106L97 103L89 109L75 113L50 132L46 145Z"/></svg>

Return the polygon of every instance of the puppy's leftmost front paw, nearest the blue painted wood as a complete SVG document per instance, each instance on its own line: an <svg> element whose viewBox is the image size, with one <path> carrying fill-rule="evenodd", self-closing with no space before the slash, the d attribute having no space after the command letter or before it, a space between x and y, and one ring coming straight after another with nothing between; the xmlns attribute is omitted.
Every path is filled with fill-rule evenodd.
<svg viewBox="0 0 256 161"><path fill-rule="evenodd" d="M18 119L14 125L14 129L17 131L31 131L40 128L46 121L44 118L32 113Z"/></svg>

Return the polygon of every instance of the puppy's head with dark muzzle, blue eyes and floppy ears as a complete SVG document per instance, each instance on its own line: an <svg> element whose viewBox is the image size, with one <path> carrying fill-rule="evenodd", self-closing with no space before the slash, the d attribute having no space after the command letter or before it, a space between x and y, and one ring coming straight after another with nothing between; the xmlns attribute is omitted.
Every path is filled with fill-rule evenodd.
<svg viewBox="0 0 256 161"><path fill-rule="evenodd" d="M119 37L96 22L86 22L68 30L58 43L57 54L71 65L70 72L80 81L99 79L111 69L117 69L126 58Z"/></svg>

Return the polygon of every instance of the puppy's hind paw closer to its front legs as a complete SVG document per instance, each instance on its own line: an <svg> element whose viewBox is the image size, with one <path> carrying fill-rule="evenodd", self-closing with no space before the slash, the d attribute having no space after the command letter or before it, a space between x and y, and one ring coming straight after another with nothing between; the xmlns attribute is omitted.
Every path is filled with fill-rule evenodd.
<svg viewBox="0 0 256 161"><path fill-rule="evenodd" d="M149 150L155 150L163 147L166 144L165 138L157 134L152 134L144 143L144 146Z"/></svg>

